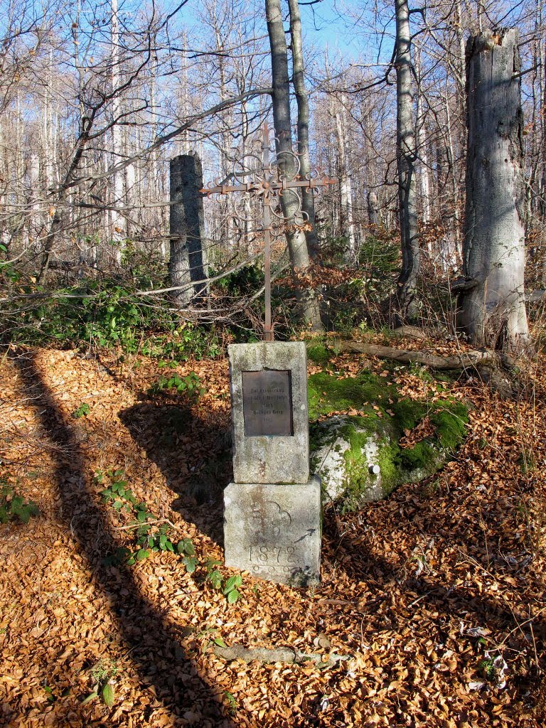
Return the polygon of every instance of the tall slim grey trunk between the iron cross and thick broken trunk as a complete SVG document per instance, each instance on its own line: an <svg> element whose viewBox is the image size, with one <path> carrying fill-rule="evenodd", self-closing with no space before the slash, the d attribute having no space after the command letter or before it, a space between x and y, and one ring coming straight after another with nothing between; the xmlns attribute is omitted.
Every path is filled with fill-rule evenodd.
<svg viewBox="0 0 546 728"><path fill-rule="evenodd" d="M402 271L398 277L398 305L402 320L419 313L416 301L421 256L417 232L415 191L415 132L411 90L411 34L407 0L395 0L396 10L396 157Z"/></svg>

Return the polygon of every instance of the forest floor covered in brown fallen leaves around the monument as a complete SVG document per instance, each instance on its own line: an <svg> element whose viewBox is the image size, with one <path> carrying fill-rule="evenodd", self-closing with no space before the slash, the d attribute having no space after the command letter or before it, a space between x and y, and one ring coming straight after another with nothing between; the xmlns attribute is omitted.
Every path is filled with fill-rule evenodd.
<svg viewBox="0 0 546 728"><path fill-rule="evenodd" d="M338 357L336 370L364 363L384 370L359 355ZM325 509L320 585L242 574L229 604L202 566L189 573L169 551L105 563L134 547L135 532L100 496L122 478L173 523L173 542L191 539L198 563L221 561L226 360L175 370L202 380L191 400L150 395L165 371L144 357L11 349L0 366L0 482L40 515L0 526L0 725L544 725L544 360L532 369L517 401L478 379L450 385L472 406L470 424L435 478L357 513ZM415 371L396 376L408 397L423 395ZM348 659L224 662L215 644ZM106 680L113 695L94 697Z"/></svg>

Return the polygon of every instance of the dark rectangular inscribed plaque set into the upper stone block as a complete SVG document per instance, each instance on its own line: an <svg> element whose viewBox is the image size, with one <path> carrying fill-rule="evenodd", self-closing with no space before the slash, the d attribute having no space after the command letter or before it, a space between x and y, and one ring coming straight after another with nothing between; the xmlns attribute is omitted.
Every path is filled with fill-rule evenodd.
<svg viewBox="0 0 546 728"><path fill-rule="evenodd" d="M241 374L245 436L293 435L290 371L262 369Z"/></svg>

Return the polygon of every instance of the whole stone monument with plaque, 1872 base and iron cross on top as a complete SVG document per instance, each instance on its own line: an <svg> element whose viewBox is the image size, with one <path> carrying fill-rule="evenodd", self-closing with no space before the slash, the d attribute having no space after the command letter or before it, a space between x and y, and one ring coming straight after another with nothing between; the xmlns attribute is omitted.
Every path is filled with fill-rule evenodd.
<svg viewBox="0 0 546 728"><path fill-rule="evenodd" d="M270 162L269 151L265 127L261 157L250 153L235 160L229 178L201 190L239 192L263 203L258 232L264 234L264 341L229 346L234 480L224 491L224 549L226 566L306 586L320 579L320 478L309 476L305 344L273 340L270 236L272 219L277 217L280 231L287 222L277 213L279 194L312 194L332 181L286 178L282 155ZM247 226L255 222L241 212L248 207L239 205L233 215Z"/></svg>

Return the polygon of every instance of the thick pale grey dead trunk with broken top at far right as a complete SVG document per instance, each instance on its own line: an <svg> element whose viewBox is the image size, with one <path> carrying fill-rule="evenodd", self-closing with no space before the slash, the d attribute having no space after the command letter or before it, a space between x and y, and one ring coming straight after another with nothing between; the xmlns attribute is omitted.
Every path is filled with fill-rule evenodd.
<svg viewBox="0 0 546 728"><path fill-rule="evenodd" d="M472 344L529 349L518 32L467 41L467 205L459 328Z"/></svg>

